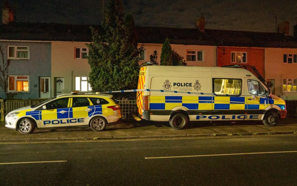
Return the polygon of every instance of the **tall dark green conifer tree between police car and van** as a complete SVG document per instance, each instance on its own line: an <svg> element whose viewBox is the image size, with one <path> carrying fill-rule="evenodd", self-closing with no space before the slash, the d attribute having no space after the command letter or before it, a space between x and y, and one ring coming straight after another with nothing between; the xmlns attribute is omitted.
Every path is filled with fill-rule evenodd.
<svg viewBox="0 0 297 186"><path fill-rule="evenodd" d="M121 0L110 0L104 13L103 33L92 29L88 62L92 90L136 89L139 73L137 34L132 15L123 20Z"/></svg>

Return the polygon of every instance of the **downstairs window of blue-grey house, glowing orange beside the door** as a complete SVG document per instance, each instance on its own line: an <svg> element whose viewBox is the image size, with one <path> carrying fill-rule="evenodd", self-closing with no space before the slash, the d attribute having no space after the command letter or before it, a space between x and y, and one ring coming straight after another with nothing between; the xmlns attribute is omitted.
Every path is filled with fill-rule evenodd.
<svg viewBox="0 0 297 186"><path fill-rule="evenodd" d="M8 91L28 92L29 76L8 76Z"/></svg>

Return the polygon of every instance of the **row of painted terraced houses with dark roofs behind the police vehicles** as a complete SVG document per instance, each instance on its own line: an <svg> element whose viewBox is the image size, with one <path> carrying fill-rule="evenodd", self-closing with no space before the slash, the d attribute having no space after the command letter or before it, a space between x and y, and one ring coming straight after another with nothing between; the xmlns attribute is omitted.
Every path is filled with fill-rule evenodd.
<svg viewBox="0 0 297 186"><path fill-rule="evenodd" d="M92 26L103 33L100 25ZM7 48L7 58L13 58L7 91L22 93L16 98L52 97L74 90L92 91L85 45L91 42L89 27L2 23L0 42ZM139 63L149 61L155 50L160 56L162 44L168 38L171 47L184 57L187 65L256 66L266 80L273 82L271 89L275 95L297 99L297 26L294 28L294 36L288 33L288 22L279 24L278 33L205 29L204 17L197 20L193 29L136 27L139 46L144 47Z"/></svg>

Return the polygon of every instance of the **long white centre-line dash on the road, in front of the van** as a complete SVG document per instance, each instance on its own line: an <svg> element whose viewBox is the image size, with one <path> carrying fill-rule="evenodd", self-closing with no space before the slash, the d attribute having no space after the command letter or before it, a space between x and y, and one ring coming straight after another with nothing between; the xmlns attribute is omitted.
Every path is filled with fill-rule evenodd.
<svg viewBox="0 0 297 186"><path fill-rule="evenodd" d="M192 156L164 156L164 157L145 157L145 159L179 158L179 157L208 157L208 156L232 156L247 154L272 154L272 153L297 153L297 151L277 151L277 152L259 152L259 153L234 153L234 154L205 154Z"/></svg>

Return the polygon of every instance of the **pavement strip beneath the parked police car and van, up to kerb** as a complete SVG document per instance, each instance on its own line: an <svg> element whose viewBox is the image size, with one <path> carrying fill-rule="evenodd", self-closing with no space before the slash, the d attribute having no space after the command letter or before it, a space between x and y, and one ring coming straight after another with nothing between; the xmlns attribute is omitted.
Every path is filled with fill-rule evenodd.
<svg viewBox="0 0 297 186"><path fill-rule="evenodd" d="M261 121L241 122L190 122L183 130L176 130L168 122L124 121L107 126L104 131L95 132L90 128L71 129L35 129L32 134L21 134L0 123L1 142L33 142L33 141L73 141L102 139L145 139L172 137L207 137L235 135L275 135L296 134L297 119L281 119L277 126L268 127Z"/></svg>

